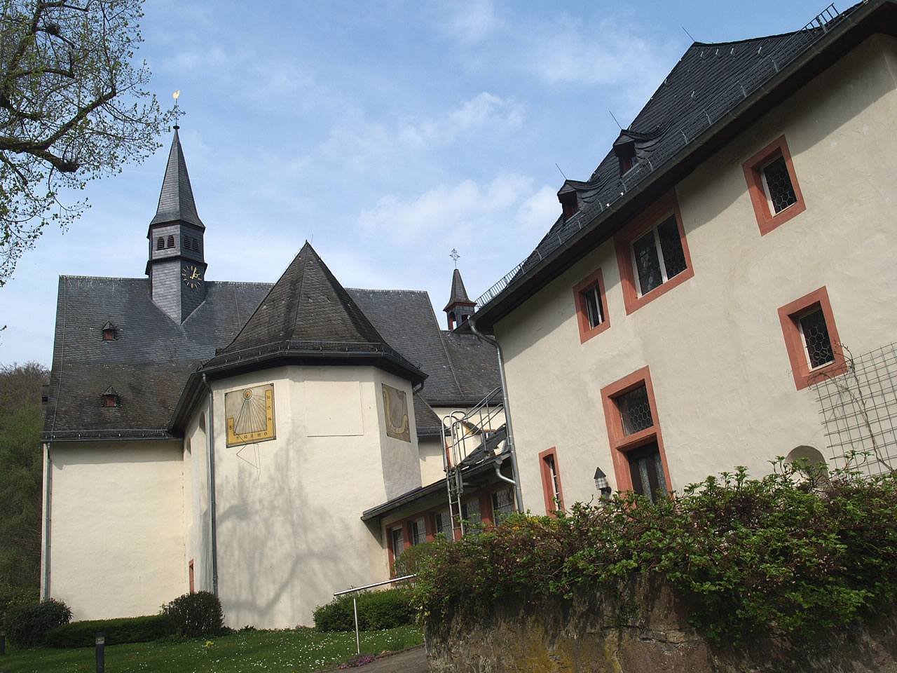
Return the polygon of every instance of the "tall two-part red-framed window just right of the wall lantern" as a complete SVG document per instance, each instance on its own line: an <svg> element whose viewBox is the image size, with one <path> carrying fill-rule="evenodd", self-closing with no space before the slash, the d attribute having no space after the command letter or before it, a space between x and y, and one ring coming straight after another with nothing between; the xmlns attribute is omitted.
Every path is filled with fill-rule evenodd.
<svg viewBox="0 0 897 673"><path fill-rule="evenodd" d="M673 490L648 367L601 389L617 490L654 500Z"/></svg>

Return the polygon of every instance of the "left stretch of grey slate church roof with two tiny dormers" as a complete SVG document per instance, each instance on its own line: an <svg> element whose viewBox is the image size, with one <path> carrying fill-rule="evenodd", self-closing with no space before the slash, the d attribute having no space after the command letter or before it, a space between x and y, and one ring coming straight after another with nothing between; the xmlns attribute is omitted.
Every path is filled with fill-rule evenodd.
<svg viewBox="0 0 897 673"><path fill-rule="evenodd" d="M164 436L196 367L230 341L270 289L206 284L182 325L152 303L148 278L59 278L46 440ZM103 340L103 327L115 339ZM120 406L103 406L112 386Z"/></svg>

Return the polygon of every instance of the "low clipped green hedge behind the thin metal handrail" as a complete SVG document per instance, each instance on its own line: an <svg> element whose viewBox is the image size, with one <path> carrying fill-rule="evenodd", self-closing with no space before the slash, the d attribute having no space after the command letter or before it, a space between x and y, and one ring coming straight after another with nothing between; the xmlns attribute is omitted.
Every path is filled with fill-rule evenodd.
<svg viewBox="0 0 897 673"><path fill-rule="evenodd" d="M362 631L379 631L411 624L414 618L411 597L411 591L406 588L356 594L359 628ZM352 595L340 596L318 607L315 610L315 628L318 631L353 631L355 616Z"/></svg>

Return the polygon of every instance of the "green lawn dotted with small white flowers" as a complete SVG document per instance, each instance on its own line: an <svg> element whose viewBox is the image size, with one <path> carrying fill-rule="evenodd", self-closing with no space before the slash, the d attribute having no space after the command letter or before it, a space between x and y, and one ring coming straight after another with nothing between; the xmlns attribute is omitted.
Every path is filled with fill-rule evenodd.
<svg viewBox="0 0 897 673"><path fill-rule="evenodd" d="M379 654L423 641L418 626L361 632L361 651ZM280 673L334 669L355 653L355 633L244 631L209 639L106 648L109 673ZM7 645L0 673L95 673L93 648L16 650Z"/></svg>

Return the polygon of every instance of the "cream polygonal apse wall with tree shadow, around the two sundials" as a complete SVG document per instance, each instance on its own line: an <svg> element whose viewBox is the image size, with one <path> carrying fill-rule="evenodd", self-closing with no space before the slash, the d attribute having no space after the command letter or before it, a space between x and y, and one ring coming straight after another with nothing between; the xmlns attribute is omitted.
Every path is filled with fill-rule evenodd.
<svg viewBox="0 0 897 673"><path fill-rule="evenodd" d="M276 438L227 447L225 393L266 383L274 383ZM408 381L370 366L289 366L213 382L218 586L228 625L311 625L335 591L387 579L386 543L361 512L421 485L421 472L413 406L413 441L388 437L382 383L410 402Z"/></svg>

